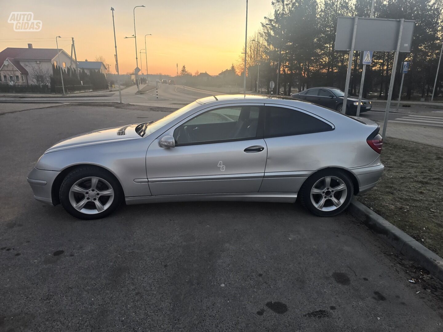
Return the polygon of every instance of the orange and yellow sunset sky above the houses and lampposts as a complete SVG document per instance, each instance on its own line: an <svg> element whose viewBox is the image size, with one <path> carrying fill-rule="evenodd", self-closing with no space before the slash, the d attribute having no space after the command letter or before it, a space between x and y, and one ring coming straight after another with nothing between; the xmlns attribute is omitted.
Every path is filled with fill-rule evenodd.
<svg viewBox="0 0 443 332"><path fill-rule="evenodd" d="M136 67L132 10L136 8L137 50L148 48L148 73L175 75L176 66L186 65L194 73L218 74L236 62L245 42L245 0L127 0L127 1L35 1L20 0L0 3L0 50L6 47L55 48L70 54L70 37L74 37L77 60L93 61L103 55L114 69L114 37L111 6L115 9L117 51L120 73ZM271 0L249 0L248 35L260 28L263 17L272 10ZM42 21L38 32L16 32L8 23L11 12L33 12ZM140 67L140 54L139 67ZM143 72L146 73L145 57Z"/></svg>

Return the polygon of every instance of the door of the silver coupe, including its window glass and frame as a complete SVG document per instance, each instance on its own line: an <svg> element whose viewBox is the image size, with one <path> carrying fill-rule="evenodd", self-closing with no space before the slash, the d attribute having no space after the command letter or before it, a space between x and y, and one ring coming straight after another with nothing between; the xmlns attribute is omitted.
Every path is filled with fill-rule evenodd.
<svg viewBox="0 0 443 332"><path fill-rule="evenodd" d="M152 195L258 192L268 153L262 105L206 109L155 139L146 154ZM159 146L164 135L175 147Z"/></svg>

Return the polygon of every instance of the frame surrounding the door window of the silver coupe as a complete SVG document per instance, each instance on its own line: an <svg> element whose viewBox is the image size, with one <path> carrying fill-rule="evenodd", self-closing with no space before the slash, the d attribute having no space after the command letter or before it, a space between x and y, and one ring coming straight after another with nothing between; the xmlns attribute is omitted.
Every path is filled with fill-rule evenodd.
<svg viewBox="0 0 443 332"><path fill-rule="evenodd" d="M258 115L258 125L257 125L257 133L254 137L245 137L245 138L239 138L239 139L221 139L221 140L213 140L213 141L205 141L205 142L190 142L190 143L175 143L175 147L185 147L185 146L191 146L191 145L204 145L204 144L216 144L216 143L229 143L229 142L239 142L239 141L251 141L256 139L263 139L264 134L264 103L229 103L229 104L221 104L221 105L213 105L209 108L204 108L194 114L191 114L187 118L181 120L179 123L175 124L171 128L169 128L167 131L164 131L163 134L159 135L157 139L161 138L163 135L171 135L174 137L174 131L176 128L181 126L182 124L185 124L186 122L194 119L197 116L200 116L204 113L214 111L216 109L220 108L235 108L235 107L245 107L245 106L256 106L259 107L259 115Z"/></svg>

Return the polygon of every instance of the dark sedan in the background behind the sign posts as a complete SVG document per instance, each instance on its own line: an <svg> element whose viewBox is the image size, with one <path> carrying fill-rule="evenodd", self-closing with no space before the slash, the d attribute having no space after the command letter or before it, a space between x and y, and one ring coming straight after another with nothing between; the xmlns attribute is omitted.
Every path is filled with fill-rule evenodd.
<svg viewBox="0 0 443 332"><path fill-rule="evenodd" d="M310 101L327 108L332 108L337 112L342 112L343 97L345 93L337 88L319 87L304 90L300 93L292 93L291 97L295 99ZM348 96L346 102L346 114L357 114L358 97ZM372 105L367 99L361 99L360 113L370 111Z"/></svg>

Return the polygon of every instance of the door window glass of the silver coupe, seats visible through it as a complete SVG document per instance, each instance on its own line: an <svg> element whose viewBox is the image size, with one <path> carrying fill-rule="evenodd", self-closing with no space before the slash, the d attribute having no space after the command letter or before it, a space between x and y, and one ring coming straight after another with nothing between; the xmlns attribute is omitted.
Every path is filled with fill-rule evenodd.
<svg viewBox="0 0 443 332"><path fill-rule="evenodd" d="M230 106L204 112L174 130L176 145L253 139L259 127L260 106Z"/></svg>

